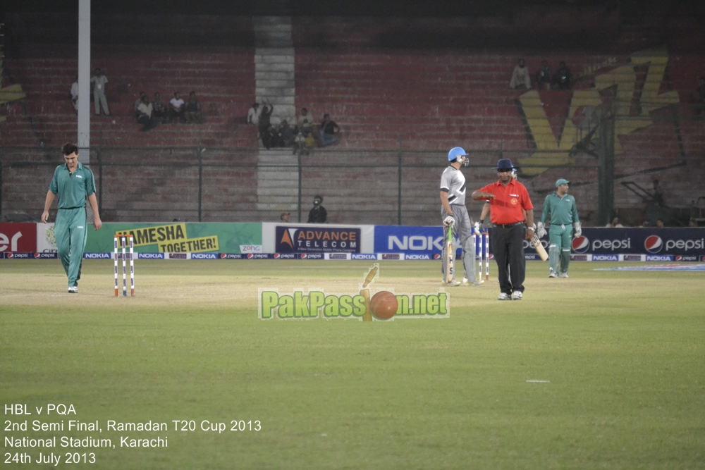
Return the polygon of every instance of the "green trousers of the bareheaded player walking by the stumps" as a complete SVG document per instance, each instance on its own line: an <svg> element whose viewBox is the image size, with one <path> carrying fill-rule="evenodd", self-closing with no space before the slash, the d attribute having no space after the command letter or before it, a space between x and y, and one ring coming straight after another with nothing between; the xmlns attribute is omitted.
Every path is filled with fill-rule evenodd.
<svg viewBox="0 0 705 470"><path fill-rule="evenodd" d="M85 207L59 209L54 223L54 236L61 266L68 276L68 287L78 286L78 280L81 278L87 235Z"/></svg>

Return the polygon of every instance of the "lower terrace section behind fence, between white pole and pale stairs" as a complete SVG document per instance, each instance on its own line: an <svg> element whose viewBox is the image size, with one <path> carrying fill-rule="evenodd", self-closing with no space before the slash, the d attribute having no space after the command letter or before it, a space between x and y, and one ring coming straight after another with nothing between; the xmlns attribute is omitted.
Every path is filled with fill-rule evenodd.
<svg viewBox="0 0 705 470"><path fill-rule="evenodd" d="M256 150L207 149L199 163L192 148L116 148L92 170L102 176L104 220L254 221L256 164Z"/></svg>

